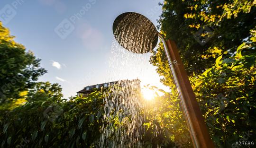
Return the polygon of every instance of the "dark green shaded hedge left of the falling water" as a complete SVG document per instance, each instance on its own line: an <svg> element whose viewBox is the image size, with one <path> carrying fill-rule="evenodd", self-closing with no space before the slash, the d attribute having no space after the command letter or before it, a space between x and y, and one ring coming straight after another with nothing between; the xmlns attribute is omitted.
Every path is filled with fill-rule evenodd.
<svg viewBox="0 0 256 148"><path fill-rule="evenodd" d="M24 148L93 148L100 137L103 92L65 100L59 99L62 94L49 91L61 90L59 86L42 84L27 95L40 99L28 99L10 112L1 113L1 148L15 148L24 141Z"/></svg>

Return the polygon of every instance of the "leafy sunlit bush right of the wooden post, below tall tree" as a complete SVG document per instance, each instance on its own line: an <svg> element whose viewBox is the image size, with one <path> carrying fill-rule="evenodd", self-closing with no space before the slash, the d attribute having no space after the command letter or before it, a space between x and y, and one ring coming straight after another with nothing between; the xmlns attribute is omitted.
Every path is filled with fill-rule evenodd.
<svg viewBox="0 0 256 148"><path fill-rule="evenodd" d="M256 53L243 56L246 47L241 44L234 57L219 56L212 68L191 77L218 148L229 148L241 137L256 139Z"/></svg>

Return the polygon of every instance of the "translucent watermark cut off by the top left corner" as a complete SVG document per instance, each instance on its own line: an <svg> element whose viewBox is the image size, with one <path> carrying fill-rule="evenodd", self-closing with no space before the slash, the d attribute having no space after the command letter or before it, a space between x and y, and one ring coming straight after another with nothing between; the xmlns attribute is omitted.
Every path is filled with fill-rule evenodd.
<svg viewBox="0 0 256 148"><path fill-rule="evenodd" d="M17 9L24 3L25 0L14 0L9 4L6 4L2 9L0 9L0 21L4 25L7 25L16 15Z"/></svg>

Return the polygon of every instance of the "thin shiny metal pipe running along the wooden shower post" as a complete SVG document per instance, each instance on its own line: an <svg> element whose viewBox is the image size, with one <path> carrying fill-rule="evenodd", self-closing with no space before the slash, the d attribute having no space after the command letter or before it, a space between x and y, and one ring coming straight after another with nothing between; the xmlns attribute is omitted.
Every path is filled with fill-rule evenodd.
<svg viewBox="0 0 256 148"><path fill-rule="evenodd" d="M188 123L188 127L189 127L189 130L190 130L190 134L192 136L192 141L195 145L196 148L200 148L199 147L199 141L198 139L196 138L196 135L195 135L195 132L194 132L194 129L193 129L193 126L192 126L192 119L190 118L189 116L189 113L188 113L188 109L187 109L187 106L185 105L185 101L184 101L184 97L183 97L183 93L182 93L182 90L181 90L181 86L179 84L179 80L177 78L177 75L175 73L175 68L174 68L174 64L177 62L175 59L172 60L170 54L169 54L169 51L168 51L168 48L167 48L167 45L166 45L166 42L165 42L165 38L164 36L157 32L157 35L158 37L161 39L161 41L163 42L164 44L164 49L165 49L165 55L167 57L167 60L168 60L168 64L170 66L170 69L171 69L171 72L172 72L172 75L173 75L173 78L174 78L174 83L176 85L176 88L177 88L177 92L178 92L178 95L179 95L179 98L181 100L181 105L183 107L183 112L185 114L185 119Z"/></svg>

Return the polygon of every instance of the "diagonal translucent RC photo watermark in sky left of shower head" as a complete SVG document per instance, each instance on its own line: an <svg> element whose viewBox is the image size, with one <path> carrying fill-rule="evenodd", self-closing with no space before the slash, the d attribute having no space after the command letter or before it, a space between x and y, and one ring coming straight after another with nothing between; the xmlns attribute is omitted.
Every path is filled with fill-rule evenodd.
<svg viewBox="0 0 256 148"><path fill-rule="evenodd" d="M61 38L65 39L70 35L75 27L74 24L77 20L82 18L89 9L91 9L92 5L96 3L96 0L89 0L87 4L82 6L82 9L80 9L77 13L73 14L69 18L64 18L61 23L55 27L54 31L55 33Z"/></svg>

